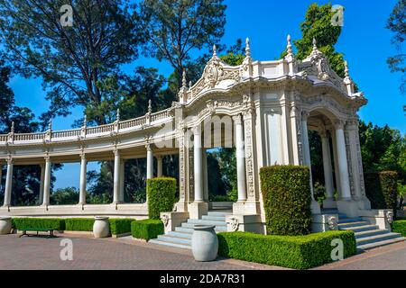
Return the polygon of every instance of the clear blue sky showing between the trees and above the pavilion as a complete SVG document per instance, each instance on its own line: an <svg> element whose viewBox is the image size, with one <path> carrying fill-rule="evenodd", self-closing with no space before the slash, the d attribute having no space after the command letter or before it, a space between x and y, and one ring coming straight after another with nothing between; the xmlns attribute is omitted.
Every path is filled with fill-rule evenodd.
<svg viewBox="0 0 406 288"><path fill-rule="evenodd" d="M391 43L392 32L385 29L396 0L292 0L289 3L276 0L226 0L226 34L222 42L232 45L238 38L244 40L249 37L254 59L277 58L285 48L287 34L291 34L293 40L300 38L300 23L309 4L315 2L346 7L344 27L336 49L345 54L351 76L369 101L359 112L361 119L381 126L389 124L406 133L406 116L402 111L406 95L402 95L399 90L401 75L392 74L386 64L386 58L396 53ZM165 76L172 71L168 63L160 63L151 58L140 58L125 65L124 69L130 72L139 65L158 67ZM11 87L18 105L31 108L36 115L48 109L49 103L44 99L41 79L14 76ZM53 128L69 129L81 114L81 109L74 109L69 117L55 119ZM59 176L70 173L78 174L78 166L66 166L63 171L58 172L56 187L72 185L71 179ZM74 182L77 182L78 177L74 178Z"/></svg>

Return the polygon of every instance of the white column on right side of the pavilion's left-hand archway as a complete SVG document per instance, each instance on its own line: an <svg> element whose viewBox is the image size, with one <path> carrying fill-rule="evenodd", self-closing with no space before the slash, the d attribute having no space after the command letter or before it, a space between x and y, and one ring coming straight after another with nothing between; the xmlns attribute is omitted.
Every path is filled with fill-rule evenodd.
<svg viewBox="0 0 406 288"><path fill-rule="evenodd" d="M238 189L238 202L245 202L246 195L246 181L245 181L245 142L244 142L244 128L241 115L233 117L235 122L235 152L236 152L236 169L237 169L237 189Z"/></svg>

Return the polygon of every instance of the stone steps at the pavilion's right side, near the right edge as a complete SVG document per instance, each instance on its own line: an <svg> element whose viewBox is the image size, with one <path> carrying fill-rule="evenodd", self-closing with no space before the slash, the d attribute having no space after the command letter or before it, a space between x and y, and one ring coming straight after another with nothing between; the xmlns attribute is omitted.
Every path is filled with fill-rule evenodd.
<svg viewBox="0 0 406 288"><path fill-rule="evenodd" d="M345 215L339 214L338 220L338 229L355 232L356 247L360 250L381 247L405 239L399 233L392 233L388 229L379 229L378 225L371 225L361 218L346 218Z"/></svg>

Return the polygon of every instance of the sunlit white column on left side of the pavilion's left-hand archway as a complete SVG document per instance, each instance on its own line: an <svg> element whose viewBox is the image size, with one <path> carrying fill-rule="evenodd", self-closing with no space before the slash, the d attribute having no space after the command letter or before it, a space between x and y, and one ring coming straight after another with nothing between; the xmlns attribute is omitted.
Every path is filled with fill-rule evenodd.
<svg viewBox="0 0 406 288"><path fill-rule="evenodd" d="M202 155L201 155L201 131L200 126L193 129L193 162L195 178L195 202L204 202L203 199L203 177L202 177Z"/></svg>

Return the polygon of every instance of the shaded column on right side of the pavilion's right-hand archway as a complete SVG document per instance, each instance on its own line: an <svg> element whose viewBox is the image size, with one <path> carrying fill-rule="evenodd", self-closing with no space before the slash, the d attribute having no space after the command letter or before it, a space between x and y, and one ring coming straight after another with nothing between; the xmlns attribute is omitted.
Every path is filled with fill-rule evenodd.
<svg viewBox="0 0 406 288"><path fill-rule="evenodd" d="M345 200L351 198L351 190L348 176L348 162L346 159L346 139L344 137L345 121L336 122L336 147L338 173L340 176L341 197Z"/></svg>

